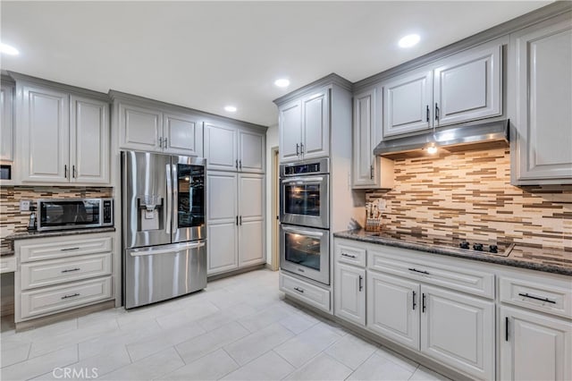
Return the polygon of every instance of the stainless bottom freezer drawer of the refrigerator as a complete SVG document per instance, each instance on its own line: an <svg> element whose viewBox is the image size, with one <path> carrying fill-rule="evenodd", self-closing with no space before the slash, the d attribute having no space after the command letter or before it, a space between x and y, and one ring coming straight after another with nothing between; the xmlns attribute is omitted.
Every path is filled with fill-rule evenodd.
<svg viewBox="0 0 572 381"><path fill-rule="evenodd" d="M206 241L125 250L125 308L164 301L206 287Z"/></svg>

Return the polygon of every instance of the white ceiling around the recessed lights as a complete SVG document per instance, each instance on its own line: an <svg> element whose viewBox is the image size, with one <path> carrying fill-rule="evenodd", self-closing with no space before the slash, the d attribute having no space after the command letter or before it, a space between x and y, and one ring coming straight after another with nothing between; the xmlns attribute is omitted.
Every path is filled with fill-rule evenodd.
<svg viewBox="0 0 572 381"><path fill-rule="evenodd" d="M549 3L3 0L2 42L21 55L0 65L272 125L274 98L324 75L362 80ZM412 32L421 42L397 47Z"/></svg>

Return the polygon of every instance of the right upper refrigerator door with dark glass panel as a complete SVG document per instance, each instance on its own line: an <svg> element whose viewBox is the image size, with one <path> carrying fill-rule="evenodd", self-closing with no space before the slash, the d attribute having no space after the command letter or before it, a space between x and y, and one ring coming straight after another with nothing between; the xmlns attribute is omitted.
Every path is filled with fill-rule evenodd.
<svg viewBox="0 0 572 381"><path fill-rule="evenodd" d="M202 157L172 157L172 242L206 238L205 168Z"/></svg>

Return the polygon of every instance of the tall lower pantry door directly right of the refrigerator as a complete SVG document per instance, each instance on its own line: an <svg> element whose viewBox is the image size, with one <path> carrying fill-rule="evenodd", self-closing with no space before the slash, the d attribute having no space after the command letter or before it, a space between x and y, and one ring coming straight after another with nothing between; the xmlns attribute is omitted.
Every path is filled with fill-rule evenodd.
<svg viewBox="0 0 572 381"><path fill-rule="evenodd" d="M238 267L237 174L206 175L208 274Z"/></svg>

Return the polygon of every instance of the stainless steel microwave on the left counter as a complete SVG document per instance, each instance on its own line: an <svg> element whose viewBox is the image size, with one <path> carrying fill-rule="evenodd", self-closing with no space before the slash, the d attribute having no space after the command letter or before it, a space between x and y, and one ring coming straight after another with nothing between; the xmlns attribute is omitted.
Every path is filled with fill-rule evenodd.
<svg viewBox="0 0 572 381"><path fill-rule="evenodd" d="M113 225L113 199L38 199L40 232Z"/></svg>

